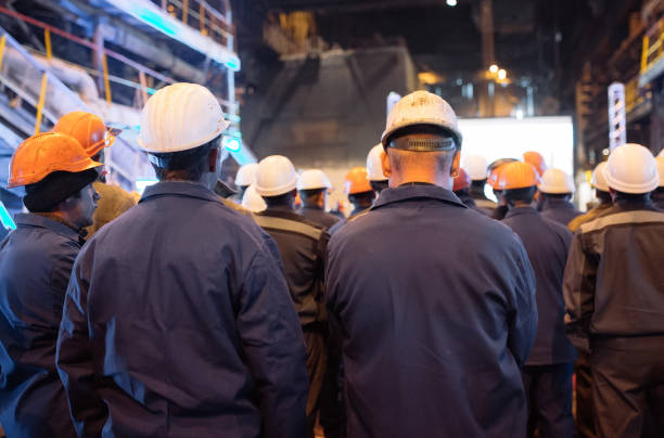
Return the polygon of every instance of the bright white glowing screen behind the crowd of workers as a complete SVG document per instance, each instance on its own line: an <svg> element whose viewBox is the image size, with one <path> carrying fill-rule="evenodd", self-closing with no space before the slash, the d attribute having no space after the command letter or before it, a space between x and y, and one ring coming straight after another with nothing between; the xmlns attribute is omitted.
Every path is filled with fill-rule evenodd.
<svg viewBox="0 0 664 438"><path fill-rule="evenodd" d="M572 117L465 118L459 119L459 129L463 134L461 158L482 155L490 164L498 158L522 160L524 152L536 151L547 167L573 175Z"/></svg>

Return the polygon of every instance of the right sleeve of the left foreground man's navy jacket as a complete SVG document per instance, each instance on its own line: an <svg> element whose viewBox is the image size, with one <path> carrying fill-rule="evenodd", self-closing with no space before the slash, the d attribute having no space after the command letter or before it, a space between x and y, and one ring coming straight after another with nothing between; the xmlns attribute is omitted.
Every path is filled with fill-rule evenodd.
<svg viewBox="0 0 664 438"><path fill-rule="evenodd" d="M266 235L244 275L237 326L259 396L266 438L306 435L306 350L279 260Z"/></svg>

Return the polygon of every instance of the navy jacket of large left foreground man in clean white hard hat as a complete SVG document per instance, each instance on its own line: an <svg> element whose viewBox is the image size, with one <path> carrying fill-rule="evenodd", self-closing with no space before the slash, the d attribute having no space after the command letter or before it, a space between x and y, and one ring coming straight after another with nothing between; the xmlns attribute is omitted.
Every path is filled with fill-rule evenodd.
<svg viewBox="0 0 664 438"><path fill-rule="evenodd" d="M58 369L84 436L305 430L305 347L274 241L201 184L148 188L86 244Z"/></svg>

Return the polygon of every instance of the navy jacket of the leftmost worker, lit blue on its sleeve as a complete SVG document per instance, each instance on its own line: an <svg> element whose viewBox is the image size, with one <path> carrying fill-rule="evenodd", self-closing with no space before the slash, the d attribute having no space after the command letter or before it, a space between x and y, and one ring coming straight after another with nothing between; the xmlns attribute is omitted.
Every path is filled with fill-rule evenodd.
<svg viewBox="0 0 664 438"><path fill-rule="evenodd" d="M55 342L81 240L42 216L15 221L0 250L0 424L9 437L76 437Z"/></svg>

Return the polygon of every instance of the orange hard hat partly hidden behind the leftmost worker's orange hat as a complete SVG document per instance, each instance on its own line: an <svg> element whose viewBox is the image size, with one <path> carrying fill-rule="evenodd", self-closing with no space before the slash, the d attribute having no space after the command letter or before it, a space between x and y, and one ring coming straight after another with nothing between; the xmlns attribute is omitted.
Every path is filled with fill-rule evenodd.
<svg viewBox="0 0 664 438"><path fill-rule="evenodd" d="M102 119L85 111L75 111L62 116L55 124L53 132L74 137L91 157L115 141L115 136L107 131Z"/></svg>

